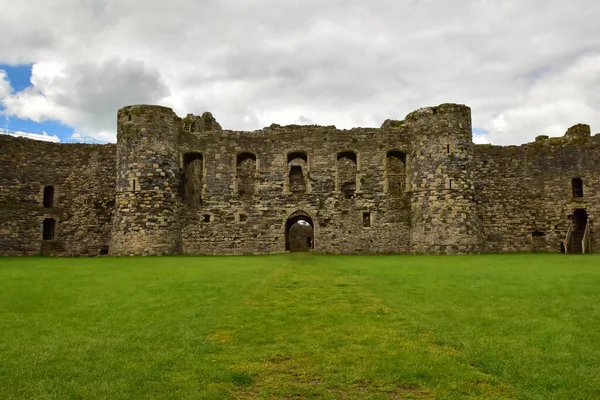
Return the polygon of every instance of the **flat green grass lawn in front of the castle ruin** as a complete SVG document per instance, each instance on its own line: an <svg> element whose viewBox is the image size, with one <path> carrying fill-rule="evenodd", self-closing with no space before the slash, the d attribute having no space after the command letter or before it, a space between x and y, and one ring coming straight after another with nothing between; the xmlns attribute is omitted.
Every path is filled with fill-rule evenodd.
<svg viewBox="0 0 600 400"><path fill-rule="evenodd" d="M0 258L0 399L600 399L600 257Z"/></svg>

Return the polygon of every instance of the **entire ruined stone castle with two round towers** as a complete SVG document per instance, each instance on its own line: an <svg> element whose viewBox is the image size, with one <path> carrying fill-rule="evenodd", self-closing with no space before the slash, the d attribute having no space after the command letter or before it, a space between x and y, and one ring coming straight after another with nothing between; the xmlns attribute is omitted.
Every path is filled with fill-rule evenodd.
<svg viewBox="0 0 600 400"><path fill-rule="evenodd" d="M135 105L116 144L0 135L0 215L0 255L590 252L600 135L475 145L456 104L253 132Z"/></svg>

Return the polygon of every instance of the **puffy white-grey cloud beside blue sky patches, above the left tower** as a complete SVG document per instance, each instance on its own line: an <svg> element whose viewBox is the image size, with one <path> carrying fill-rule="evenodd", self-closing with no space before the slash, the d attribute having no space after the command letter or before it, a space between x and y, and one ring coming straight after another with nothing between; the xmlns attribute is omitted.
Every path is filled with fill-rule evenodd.
<svg viewBox="0 0 600 400"><path fill-rule="evenodd" d="M85 136L115 139L116 111L132 103L155 103L169 94L158 71L142 61L38 63L32 86L4 99L7 112L41 122L57 120Z"/></svg>

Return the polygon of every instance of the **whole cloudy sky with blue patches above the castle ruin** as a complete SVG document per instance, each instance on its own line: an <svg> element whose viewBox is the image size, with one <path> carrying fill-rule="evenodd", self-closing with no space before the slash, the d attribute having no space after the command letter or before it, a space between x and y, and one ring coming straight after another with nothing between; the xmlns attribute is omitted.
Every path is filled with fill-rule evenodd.
<svg viewBox="0 0 600 400"><path fill-rule="evenodd" d="M116 110L225 129L473 110L474 139L600 131L593 0L0 0L0 130L114 141Z"/></svg>

